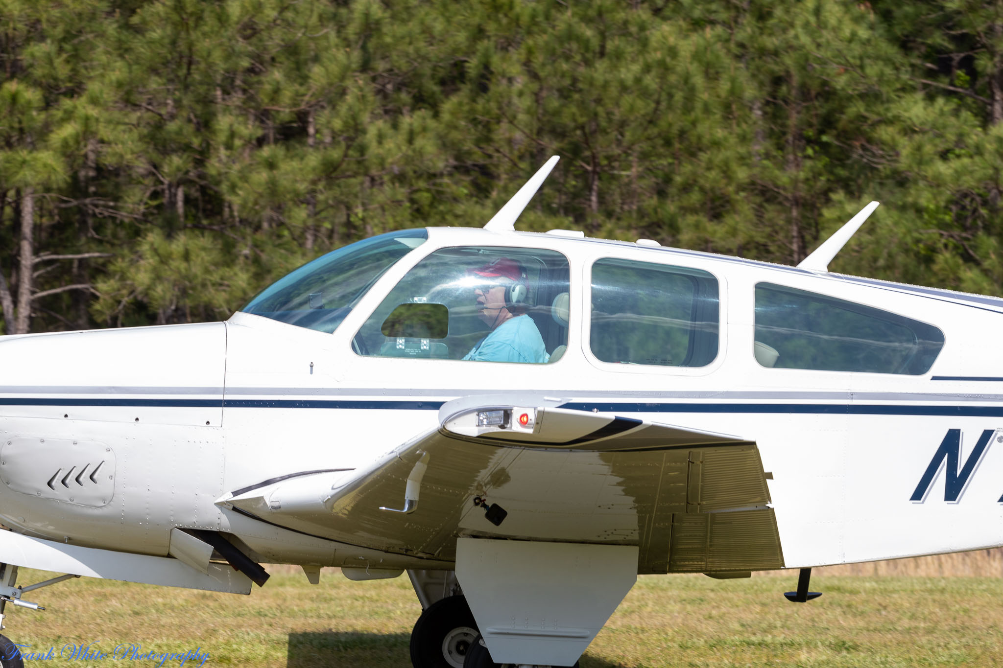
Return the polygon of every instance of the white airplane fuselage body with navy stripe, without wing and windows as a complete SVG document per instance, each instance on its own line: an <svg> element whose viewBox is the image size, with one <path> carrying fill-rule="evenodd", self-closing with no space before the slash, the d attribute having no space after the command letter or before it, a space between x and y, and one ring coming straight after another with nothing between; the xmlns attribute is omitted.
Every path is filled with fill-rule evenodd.
<svg viewBox="0 0 1003 668"><path fill-rule="evenodd" d="M353 353L355 332L409 268L436 248L463 244L567 256L567 352L558 362ZM589 345L590 267L603 257L713 274L720 286L714 361L700 368L599 361ZM920 376L764 367L753 355L754 292L762 281L933 324L943 349ZM284 476L362 469L434 430L445 402L532 391L569 408L755 442L787 567L1000 546L1001 325L1003 300L991 297L633 243L430 229L428 241L383 274L333 335L238 312L224 323L0 338L0 522L140 554L166 555L170 532L181 527L234 533L273 562L444 567L371 528L361 528L358 540L308 536L217 501ZM912 500L953 430L956 460L943 458ZM987 432L981 454L970 459ZM101 461L108 463L95 478L108 478L88 484ZM511 530L517 536L532 531L513 526L524 527ZM581 526L558 538L604 542L588 522ZM626 531L615 540L629 542L629 523Z"/></svg>

